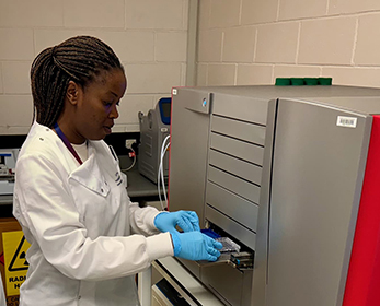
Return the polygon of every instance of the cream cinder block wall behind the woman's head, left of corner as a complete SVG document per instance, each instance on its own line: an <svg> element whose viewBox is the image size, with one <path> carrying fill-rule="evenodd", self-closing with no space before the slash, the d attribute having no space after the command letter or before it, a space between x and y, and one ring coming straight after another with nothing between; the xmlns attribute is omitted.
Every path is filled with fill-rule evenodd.
<svg viewBox="0 0 380 306"><path fill-rule="evenodd" d="M0 0L0 134L24 134L33 114L30 67L76 35L111 45L127 72L114 131L138 131L145 114L186 75L188 0Z"/></svg>

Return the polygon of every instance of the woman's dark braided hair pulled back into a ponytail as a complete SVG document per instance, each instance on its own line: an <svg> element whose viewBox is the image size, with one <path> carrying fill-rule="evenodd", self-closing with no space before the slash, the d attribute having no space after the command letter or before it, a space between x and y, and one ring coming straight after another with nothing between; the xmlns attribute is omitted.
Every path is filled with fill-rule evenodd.
<svg viewBox="0 0 380 306"><path fill-rule="evenodd" d="M53 127L64 109L68 84L85 87L103 71L123 66L112 48L91 36L77 36L46 48L33 61L31 85L33 120Z"/></svg>

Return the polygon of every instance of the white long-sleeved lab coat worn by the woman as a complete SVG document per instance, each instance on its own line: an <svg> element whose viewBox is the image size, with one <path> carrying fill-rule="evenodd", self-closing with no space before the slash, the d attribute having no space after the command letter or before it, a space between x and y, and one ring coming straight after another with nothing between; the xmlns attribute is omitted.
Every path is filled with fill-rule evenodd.
<svg viewBox="0 0 380 306"><path fill-rule="evenodd" d="M139 305L131 275L173 255L170 234L154 227L158 213L129 201L104 141L89 141L79 166L53 130L34 123L14 187L13 214L31 243L20 305Z"/></svg>

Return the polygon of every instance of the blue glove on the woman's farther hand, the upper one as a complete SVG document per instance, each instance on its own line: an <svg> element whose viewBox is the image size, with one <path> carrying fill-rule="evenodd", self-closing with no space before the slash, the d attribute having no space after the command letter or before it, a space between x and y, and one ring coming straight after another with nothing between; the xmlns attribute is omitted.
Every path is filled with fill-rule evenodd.
<svg viewBox="0 0 380 306"><path fill-rule="evenodd" d="M194 211L161 212L154 217L154 226L161 232L173 232L179 225L184 232L200 231L199 219Z"/></svg>

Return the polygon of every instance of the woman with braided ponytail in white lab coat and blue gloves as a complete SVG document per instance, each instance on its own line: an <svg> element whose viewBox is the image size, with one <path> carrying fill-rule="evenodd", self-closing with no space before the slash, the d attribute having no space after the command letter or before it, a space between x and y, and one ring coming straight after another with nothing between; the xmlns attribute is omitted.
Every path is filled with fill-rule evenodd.
<svg viewBox="0 0 380 306"><path fill-rule="evenodd" d="M19 154L13 214L31 243L21 306L139 305L134 274L154 259L216 260L194 212L139 208L103 141L126 91L103 42L78 36L31 69L35 122ZM184 233L179 233L179 225Z"/></svg>

